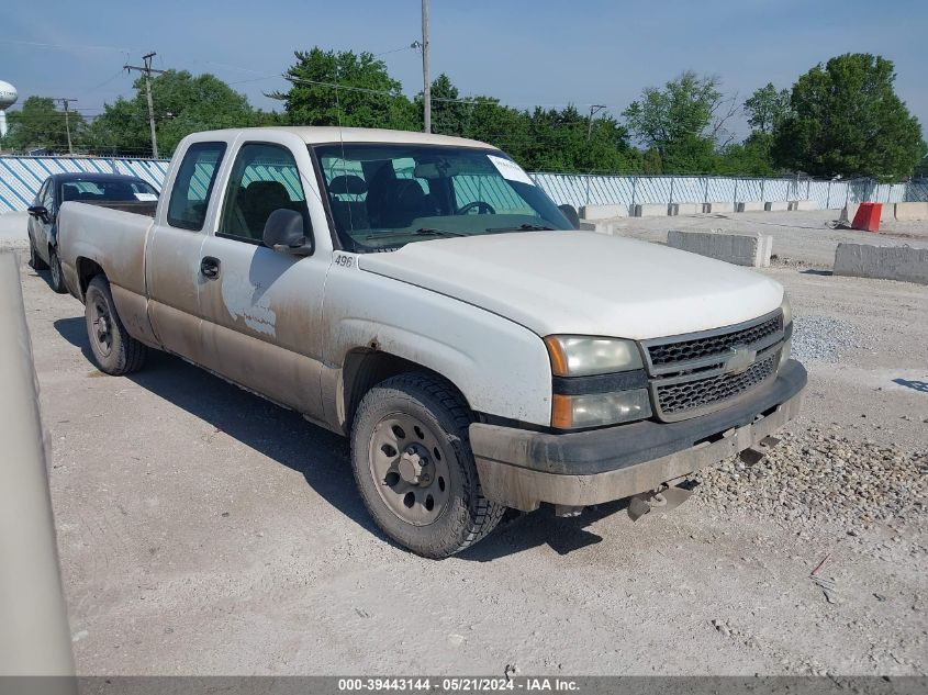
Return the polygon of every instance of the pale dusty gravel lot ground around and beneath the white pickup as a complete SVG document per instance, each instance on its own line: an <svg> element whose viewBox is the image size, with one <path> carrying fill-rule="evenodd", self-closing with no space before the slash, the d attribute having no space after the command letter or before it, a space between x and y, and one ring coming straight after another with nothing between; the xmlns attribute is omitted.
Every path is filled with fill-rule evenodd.
<svg viewBox="0 0 928 695"><path fill-rule="evenodd" d="M79 673L928 673L928 288L763 272L829 333L765 461L434 562L373 527L343 439L169 356L103 377L23 265Z"/></svg>

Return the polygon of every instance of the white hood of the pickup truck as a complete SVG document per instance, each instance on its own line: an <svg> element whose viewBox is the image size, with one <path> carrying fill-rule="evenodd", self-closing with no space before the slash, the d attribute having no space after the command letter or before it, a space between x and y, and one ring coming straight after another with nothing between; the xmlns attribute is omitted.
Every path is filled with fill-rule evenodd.
<svg viewBox="0 0 928 695"><path fill-rule="evenodd" d="M745 268L593 232L432 239L360 256L358 265L539 336L672 336L756 318L783 299L780 283Z"/></svg>

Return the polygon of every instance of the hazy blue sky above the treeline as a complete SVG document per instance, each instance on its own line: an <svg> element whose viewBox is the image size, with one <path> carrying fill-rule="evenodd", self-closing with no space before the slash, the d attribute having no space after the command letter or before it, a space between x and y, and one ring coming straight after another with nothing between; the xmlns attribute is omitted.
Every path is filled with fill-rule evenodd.
<svg viewBox="0 0 928 695"><path fill-rule="evenodd" d="M928 131L928 2L893 0L431 0L432 74L463 96L516 108L581 112L605 104L619 116L641 89L686 69L717 75L739 102L773 82L789 88L829 57L880 54L896 66L896 92ZM24 0L0 10L0 80L26 97L67 97L92 116L132 93L125 63L156 51L156 68L212 72L253 105L293 51L369 51L413 96L422 63L421 0L159 0L155 3ZM16 107L14 107L15 109ZM743 117L731 123L746 135Z"/></svg>

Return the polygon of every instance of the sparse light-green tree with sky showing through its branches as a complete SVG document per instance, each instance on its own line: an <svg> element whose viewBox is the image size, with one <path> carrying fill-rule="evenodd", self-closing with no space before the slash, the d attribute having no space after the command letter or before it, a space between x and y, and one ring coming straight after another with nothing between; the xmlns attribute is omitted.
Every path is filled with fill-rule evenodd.
<svg viewBox="0 0 928 695"><path fill-rule="evenodd" d="M726 103L717 77L687 70L663 89L646 88L623 115L629 131L657 152L663 171L702 172L713 169L716 141L733 114Z"/></svg>

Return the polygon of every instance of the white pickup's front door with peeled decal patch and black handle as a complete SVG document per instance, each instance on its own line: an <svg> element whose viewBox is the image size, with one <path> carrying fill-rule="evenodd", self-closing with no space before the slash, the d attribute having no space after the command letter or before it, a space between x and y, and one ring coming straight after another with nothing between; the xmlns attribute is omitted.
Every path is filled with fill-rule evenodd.
<svg viewBox="0 0 928 695"><path fill-rule="evenodd" d="M267 133L262 142L237 146L214 234L200 249L203 360L227 379L321 419L328 229L316 231L316 251L309 257L261 244L275 210L294 210L309 225L306 191L317 199L306 147L302 141L292 148L284 144L292 138Z"/></svg>

